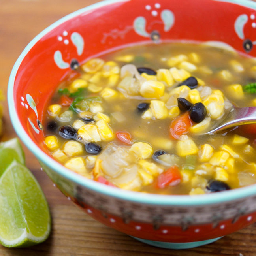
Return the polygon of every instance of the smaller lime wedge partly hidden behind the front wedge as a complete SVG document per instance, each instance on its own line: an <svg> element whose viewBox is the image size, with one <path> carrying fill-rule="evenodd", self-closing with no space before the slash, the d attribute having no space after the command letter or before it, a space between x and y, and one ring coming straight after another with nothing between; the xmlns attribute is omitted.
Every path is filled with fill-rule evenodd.
<svg viewBox="0 0 256 256"><path fill-rule="evenodd" d="M0 177L13 160L25 164L24 152L17 138L0 143Z"/></svg>

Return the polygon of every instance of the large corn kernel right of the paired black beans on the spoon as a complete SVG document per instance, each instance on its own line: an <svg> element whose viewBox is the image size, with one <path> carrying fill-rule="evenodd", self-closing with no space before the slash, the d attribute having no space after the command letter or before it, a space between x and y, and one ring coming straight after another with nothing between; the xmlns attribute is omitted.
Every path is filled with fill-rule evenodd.
<svg viewBox="0 0 256 256"><path fill-rule="evenodd" d="M203 101L203 105L205 105L208 115L213 119L221 117L224 113L224 98L218 94L209 95Z"/></svg>

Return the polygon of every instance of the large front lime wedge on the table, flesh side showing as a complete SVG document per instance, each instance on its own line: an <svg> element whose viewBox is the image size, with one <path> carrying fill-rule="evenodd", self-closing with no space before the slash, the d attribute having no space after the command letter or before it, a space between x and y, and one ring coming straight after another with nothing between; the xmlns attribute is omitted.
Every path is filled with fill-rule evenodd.
<svg viewBox="0 0 256 256"><path fill-rule="evenodd" d="M26 247L47 239L51 218L32 173L14 160L0 177L0 243Z"/></svg>

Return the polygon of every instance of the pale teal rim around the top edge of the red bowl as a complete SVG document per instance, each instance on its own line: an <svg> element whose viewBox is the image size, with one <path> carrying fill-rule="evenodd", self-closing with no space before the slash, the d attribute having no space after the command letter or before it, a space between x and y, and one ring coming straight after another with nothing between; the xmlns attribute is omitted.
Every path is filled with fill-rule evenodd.
<svg viewBox="0 0 256 256"><path fill-rule="evenodd" d="M90 11L92 9L97 9L102 6L106 6L109 4L117 3L117 2L127 2L129 0L105 0L102 2L98 2L96 4L92 4L85 8L79 9L73 13L66 15L65 17L59 19L55 23L51 24L45 30L40 32L28 45L25 47L17 61L15 62L13 69L10 74L9 82L8 82L8 106L9 106L9 114L11 118L11 122L13 127L23 143L28 147L28 149L33 152L33 154L40 160L45 163L49 168L54 170L58 175L65 177L66 179L73 181L81 186L94 190L98 193L105 194L107 196L111 196L114 198L132 201L141 204L151 204L151 205L176 205L176 206L198 206L198 205L209 205L222 203L226 201L238 200L241 198L245 198L248 196L256 195L256 184L246 186L243 188L237 188L233 190L228 190L224 192L212 193L212 194L204 194L197 196L189 196L189 195L159 195L159 194L145 194L140 192L122 190L120 188L114 188L110 186L106 186L104 184L98 183L96 181L92 181L81 175L78 175L69 169L65 168L55 160L53 160L50 156L48 156L45 152L43 152L30 137L26 134L23 126L19 122L19 117L17 112L15 111L14 97L13 97L13 86L17 71L23 58L26 56L28 51L43 37L45 34L59 26L60 24L72 19L73 17L80 15L85 11ZM213 0L216 2L228 2L237 4L240 6L245 6L248 8L252 8L256 10L256 2L252 2L250 0Z"/></svg>

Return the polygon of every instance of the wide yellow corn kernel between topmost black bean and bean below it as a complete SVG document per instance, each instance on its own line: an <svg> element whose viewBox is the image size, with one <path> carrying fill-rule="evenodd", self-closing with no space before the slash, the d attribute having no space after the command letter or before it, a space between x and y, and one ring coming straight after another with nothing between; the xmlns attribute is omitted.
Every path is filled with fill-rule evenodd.
<svg viewBox="0 0 256 256"><path fill-rule="evenodd" d="M145 98L159 99L164 95L165 86L159 81L145 81L139 89L140 94Z"/></svg>

